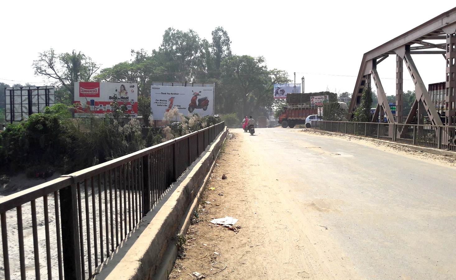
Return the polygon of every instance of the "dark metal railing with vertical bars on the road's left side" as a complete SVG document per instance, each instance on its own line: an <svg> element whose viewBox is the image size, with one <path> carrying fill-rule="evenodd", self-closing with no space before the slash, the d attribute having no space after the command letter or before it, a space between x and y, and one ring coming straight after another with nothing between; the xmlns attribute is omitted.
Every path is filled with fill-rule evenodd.
<svg viewBox="0 0 456 280"><path fill-rule="evenodd" d="M87 279L224 122L0 199L0 278Z"/></svg>

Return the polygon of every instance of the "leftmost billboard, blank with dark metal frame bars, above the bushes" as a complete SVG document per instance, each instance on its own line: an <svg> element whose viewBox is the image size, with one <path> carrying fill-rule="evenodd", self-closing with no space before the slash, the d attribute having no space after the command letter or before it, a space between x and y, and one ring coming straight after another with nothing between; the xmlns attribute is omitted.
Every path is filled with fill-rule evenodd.
<svg viewBox="0 0 456 280"><path fill-rule="evenodd" d="M28 119L54 103L53 86L5 88L5 120L12 123Z"/></svg>

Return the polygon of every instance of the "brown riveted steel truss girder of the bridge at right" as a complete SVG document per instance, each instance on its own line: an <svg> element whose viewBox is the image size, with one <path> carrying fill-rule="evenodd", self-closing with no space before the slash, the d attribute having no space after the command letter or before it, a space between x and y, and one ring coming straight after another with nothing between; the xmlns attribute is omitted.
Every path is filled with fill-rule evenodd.
<svg viewBox="0 0 456 280"><path fill-rule="evenodd" d="M377 91L379 92L379 104L377 104L378 110L376 110L374 119L380 114L380 111L383 111L387 114L388 121L394 122L394 117L391 118L392 114L389 116L389 113L391 113L389 106L386 106L388 108L385 107L385 102L388 104L388 101L386 99L386 95L384 94L383 87L381 86L380 79L376 70L376 65L386 59L389 55L395 55L396 102L397 107L399 107L396 108L397 110L395 121L402 123L402 115L408 113L406 123L410 122L414 117L414 114L416 114L416 110L421 109L420 111L424 110L425 113L430 117L432 124L441 125L442 122L440 120L440 116L437 114L437 111L432 104L432 100L430 99L427 88L420 77L418 69L413 62L411 55L442 54L447 62L446 99L448 99L448 101L446 101L446 112L448 112L448 115L452 117L446 121L446 124L456 124L456 97L454 94L451 95L451 93L455 93L456 90L456 63L454 61L456 58L456 50L454 48L456 44L455 33L456 8L453 8L439 16L436 16L430 21L427 21L408 32L405 32L393 40L390 40L383 45L364 53L355 88L353 90L352 100L348 109L348 119L352 118L352 113L360 102L363 89L370 87L370 77L372 76L376 83ZM445 42L430 42L432 40L445 40ZM412 80L415 84L417 104L414 104L414 106L412 106L410 112L403 112L402 110L402 60L404 60L406 68L409 70L410 76L412 77ZM455 80L452 80L453 77ZM379 88L381 89L381 93ZM385 95L384 98L383 95Z"/></svg>

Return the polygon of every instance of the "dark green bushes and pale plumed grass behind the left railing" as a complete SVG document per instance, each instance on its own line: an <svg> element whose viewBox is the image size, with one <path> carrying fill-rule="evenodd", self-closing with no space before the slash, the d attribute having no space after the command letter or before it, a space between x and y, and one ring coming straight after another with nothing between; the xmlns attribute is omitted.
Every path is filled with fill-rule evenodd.
<svg viewBox="0 0 456 280"><path fill-rule="evenodd" d="M126 118L121 109L104 119L73 119L72 109L56 104L9 124L0 133L1 171L25 171L30 177L70 173L220 122L213 116L178 115L179 122L152 128Z"/></svg>

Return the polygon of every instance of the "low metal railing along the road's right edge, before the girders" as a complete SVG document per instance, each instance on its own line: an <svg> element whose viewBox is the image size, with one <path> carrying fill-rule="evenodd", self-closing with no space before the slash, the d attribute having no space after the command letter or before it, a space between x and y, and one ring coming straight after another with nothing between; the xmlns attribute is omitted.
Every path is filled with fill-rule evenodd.
<svg viewBox="0 0 456 280"><path fill-rule="evenodd" d="M311 128L435 149L456 150L455 126L313 120Z"/></svg>

